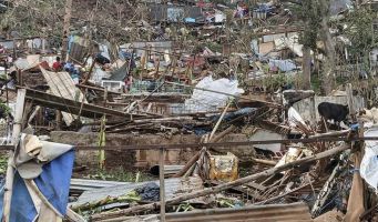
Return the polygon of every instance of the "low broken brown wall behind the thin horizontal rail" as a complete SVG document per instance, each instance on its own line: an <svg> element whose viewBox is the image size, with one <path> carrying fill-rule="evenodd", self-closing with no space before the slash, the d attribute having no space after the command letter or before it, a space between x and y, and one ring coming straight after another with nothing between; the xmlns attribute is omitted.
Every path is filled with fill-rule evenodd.
<svg viewBox="0 0 378 222"><path fill-rule="evenodd" d="M71 131L53 131L51 132L51 140L53 142L76 144L76 145L98 145L98 133L80 133ZM228 134L224 137L221 142L243 142L247 140L245 134ZM200 143L201 137L194 134L172 135L170 138L157 134L106 134L108 145L149 145L149 144L184 144L184 143ZM185 164L195 153L197 149L184 150L168 150L165 155L166 164ZM219 152L233 152L241 160L248 159L254 155L254 149L243 147L241 149L234 148L216 148ZM76 151L76 165L96 167L98 151ZM106 151L106 168L147 168L159 164L157 150L137 150L137 151Z"/></svg>

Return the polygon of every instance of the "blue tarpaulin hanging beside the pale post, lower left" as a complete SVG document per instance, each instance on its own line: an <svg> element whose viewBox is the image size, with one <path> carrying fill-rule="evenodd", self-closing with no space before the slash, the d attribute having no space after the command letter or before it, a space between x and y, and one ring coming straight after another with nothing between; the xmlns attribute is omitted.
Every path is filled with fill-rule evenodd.
<svg viewBox="0 0 378 222"><path fill-rule="evenodd" d="M74 161L74 151L71 150L50 163L43 165L42 173L34 182L47 200L65 215L69 201L70 181ZM2 216L4 189L0 193L0 215ZM28 192L23 179L16 172L10 212L10 222L31 222L37 216L37 209Z"/></svg>

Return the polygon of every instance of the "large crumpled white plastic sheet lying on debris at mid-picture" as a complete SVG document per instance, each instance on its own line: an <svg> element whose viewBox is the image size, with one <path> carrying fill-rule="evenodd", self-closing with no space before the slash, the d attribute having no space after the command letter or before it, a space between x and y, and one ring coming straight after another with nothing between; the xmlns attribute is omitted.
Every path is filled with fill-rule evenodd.
<svg viewBox="0 0 378 222"><path fill-rule="evenodd" d="M206 77L201 80L193 90L191 99L185 101L185 110L187 112L206 112L215 111L219 107L225 107L231 95L239 95L244 93L243 89L238 89L237 80L218 79L213 80L212 77ZM211 90L211 91L204 91ZM218 93L221 92L221 93ZM227 93L227 94L222 94Z"/></svg>

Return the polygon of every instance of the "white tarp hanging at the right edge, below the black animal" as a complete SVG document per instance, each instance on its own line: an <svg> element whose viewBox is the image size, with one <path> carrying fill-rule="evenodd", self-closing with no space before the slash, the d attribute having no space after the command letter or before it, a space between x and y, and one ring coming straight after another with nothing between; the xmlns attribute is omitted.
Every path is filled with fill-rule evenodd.
<svg viewBox="0 0 378 222"><path fill-rule="evenodd" d="M364 137L378 137L378 125L365 131ZM365 155L359 172L365 181L377 190L378 185L378 140L365 141Z"/></svg>

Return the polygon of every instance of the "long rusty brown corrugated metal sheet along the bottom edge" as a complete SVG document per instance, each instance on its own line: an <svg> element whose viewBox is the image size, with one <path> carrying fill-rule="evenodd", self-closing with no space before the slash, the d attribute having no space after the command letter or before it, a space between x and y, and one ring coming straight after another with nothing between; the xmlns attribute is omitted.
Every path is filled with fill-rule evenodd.
<svg viewBox="0 0 378 222"><path fill-rule="evenodd" d="M166 222L311 222L305 203L252 205L235 209L207 209L165 214ZM124 216L105 222L159 222L159 215Z"/></svg>

